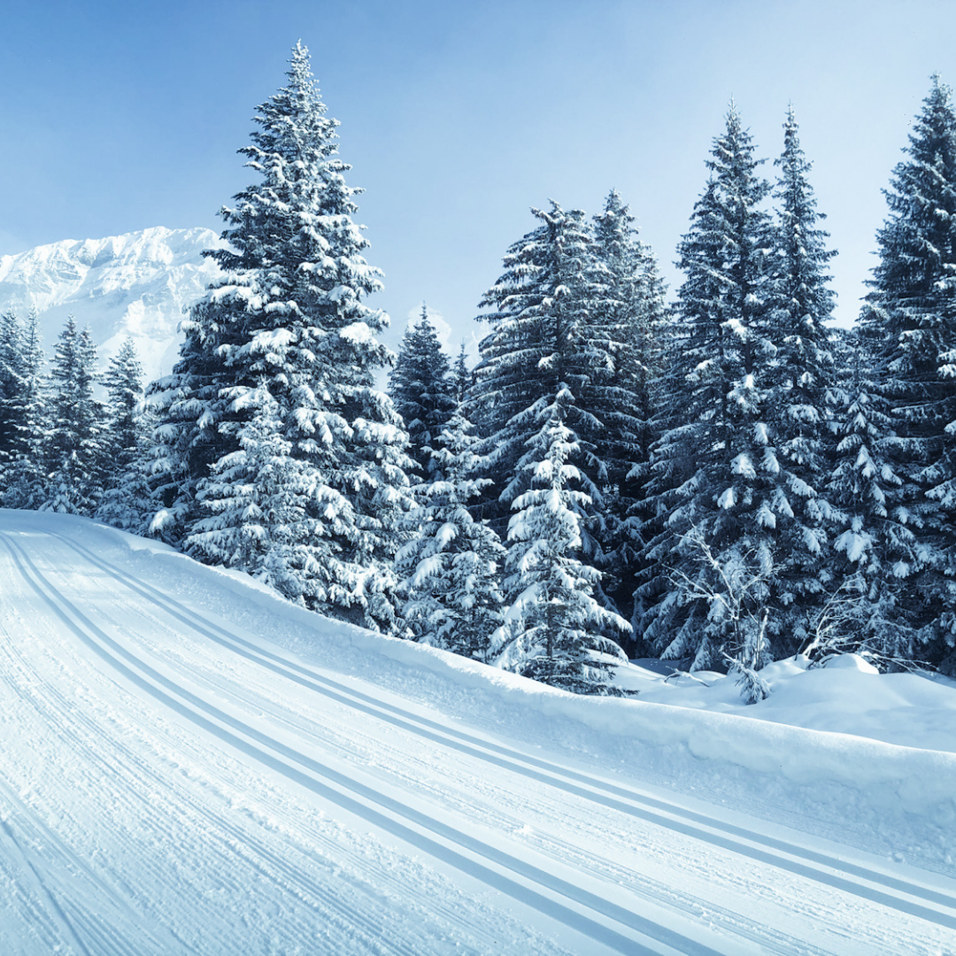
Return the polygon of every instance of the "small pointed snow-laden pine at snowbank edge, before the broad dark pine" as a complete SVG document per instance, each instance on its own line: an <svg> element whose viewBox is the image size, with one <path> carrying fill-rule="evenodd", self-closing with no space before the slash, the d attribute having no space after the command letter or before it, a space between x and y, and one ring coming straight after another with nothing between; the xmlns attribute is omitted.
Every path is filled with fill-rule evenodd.
<svg viewBox="0 0 956 956"><path fill-rule="evenodd" d="M512 502L505 591L508 610L492 637L496 662L525 677L576 693L608 693L623 651L606 634L630 625L594 595L600 572L578 557L592 498L572 464L576 435L564 424L574 399L563 383L534 414L542 426L518 467L531 487ZM576 488L573 486L577 486Z"/></svg>

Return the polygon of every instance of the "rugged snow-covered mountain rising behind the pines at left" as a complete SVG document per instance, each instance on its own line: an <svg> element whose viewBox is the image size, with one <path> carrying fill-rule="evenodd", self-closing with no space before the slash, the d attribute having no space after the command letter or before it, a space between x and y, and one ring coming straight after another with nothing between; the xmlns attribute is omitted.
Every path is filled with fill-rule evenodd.
<svg viewBox="0 0 956 956"><path fill-rule="evenodd" d="M35 307L52 353L67 315L89 325L102 364L133 338L146 381L179 354L183 311L219 272L203 250L223 243L210 229L155 227L105 239L67 239L0 258L0 311Z"/></svg>

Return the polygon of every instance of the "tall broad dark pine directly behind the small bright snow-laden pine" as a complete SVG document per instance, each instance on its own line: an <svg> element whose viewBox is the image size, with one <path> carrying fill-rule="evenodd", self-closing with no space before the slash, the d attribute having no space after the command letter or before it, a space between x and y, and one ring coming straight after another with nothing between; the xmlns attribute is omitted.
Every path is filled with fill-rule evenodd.
<svg viewBox="0 0 956 956"><path fill-rule="evenodd" d="M589 329L596 292L593 240L580 210L566 212L552 202L550 210L532 213L540 225L511 246L505 273L481 302L491 311L479 320L490 331L479 346L467 407L492 483L483 511L503 535L511 502L529 487L530 475L518 462L541 427L540 403L553 402L559 384L567 383L564 414L577 436L575 465L587 475L593 496L582 554L599 563L606 527L600 489L607 468L596 449L604 425L581 401L595 370L610 362L606 342Z"/></svg>

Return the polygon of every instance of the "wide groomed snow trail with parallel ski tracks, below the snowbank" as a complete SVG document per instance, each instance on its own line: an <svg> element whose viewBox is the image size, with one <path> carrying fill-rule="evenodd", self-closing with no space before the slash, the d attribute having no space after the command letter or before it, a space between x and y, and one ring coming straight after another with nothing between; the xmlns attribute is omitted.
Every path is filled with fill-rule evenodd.
<svg viewBox="0 0 956 956"><path fill-rule="evenodd" d="M956 951L951 875L445 718L157 551L0 511L0 953Z"/></svg>

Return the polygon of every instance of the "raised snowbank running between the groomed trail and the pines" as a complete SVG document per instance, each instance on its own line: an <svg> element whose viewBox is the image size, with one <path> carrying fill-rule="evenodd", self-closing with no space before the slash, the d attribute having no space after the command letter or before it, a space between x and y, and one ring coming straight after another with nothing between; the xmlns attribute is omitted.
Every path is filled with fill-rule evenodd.
<svg viewBox="0 0 956 956"><path fill-rule="evenodd" d="M84 519L6 512L5 526L67 534L168 593L281 645L305 663L396 694L525 750L634 789L653 785L744 808L807 832L940 869L956 860L956 684L879 675L857 659L823 670L767 668L768 701L739 704L732 682L706 685L633 667L640 696L583 698L435 648L382 637L294 607L249 576Z"/></svg>

